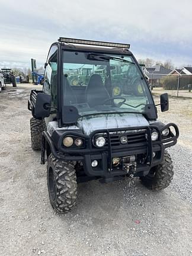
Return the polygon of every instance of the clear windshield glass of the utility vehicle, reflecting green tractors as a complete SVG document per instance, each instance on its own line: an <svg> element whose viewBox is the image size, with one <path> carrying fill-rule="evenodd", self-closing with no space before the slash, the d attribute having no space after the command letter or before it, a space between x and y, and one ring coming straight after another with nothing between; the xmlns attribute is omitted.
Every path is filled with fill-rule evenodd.
<svg viewBox="0 0 192 256"><path fill-rule="evenodd" d="M63 104L80 116L99 113L145 113L152 103L132 56L63 52Z"/></svg>

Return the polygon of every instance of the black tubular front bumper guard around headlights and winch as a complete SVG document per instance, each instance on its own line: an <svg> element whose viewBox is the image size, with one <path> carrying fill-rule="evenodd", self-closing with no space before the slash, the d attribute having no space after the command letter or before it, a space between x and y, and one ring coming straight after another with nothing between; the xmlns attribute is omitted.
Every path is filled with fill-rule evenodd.
<svg viewBox="0 0 192 256"><path fill-rule="evenodd" d="M167 138L162 138L161 131L167 127L174 127L175 133L171 132L171 136ZM119 131L123 130L137 130L138 127L129 127L118 129ZM173 146L177 143L177 138L179 136L178 127L169 123L166 126L159 128L157 126L148 126L148 127L139 127L139 129L145 129L147 132L147 143L145 145L135 144L129 145L122 149L113 149L111 148L110 143L110 133L117 132L117 129L105 129L105 130L96 130L92 133L87 143L88 147L85 149L63 149L61 145L55 145L53 143L52 137L49 136L47 132L43 132L43 146L41 151L41 164L44 164L44 153L46 150L46 142L49 144L52 154L55 158L63 161L81 161L84 165L84 171L87 176L91 177L104 177L110 178L120 175L127 175L123 169L113 167L112 159L113 158L122 158L130 155L146 155L146 161L142 164L137 164L134 176L145 176L148 174L150 169L153 166L156 166L162 162L164 158L164 151L166 148ZM151 141L151 130L157 130L159 133L159 139L155 142ZM95 149L92 147L92 137L97 133L106 133L108 137L108 146L107 148ZM73 132L65 132L65 135L73 135ZM74 132L76 135L76 133ZM61 140L59 140L61 141ZM59 150L57 149L59 148ZM153 158L153 152L156 153L156 156ZM98 166L92 167L92 161L97 160ZM129 174L129 173L128 173Z"/></svg>

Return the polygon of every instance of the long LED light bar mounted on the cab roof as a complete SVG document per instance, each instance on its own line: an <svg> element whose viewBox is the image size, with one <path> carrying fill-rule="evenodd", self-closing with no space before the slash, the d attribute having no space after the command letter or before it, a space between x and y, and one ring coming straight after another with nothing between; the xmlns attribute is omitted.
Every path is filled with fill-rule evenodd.
<svg viewBox="0 0 192 256"><path fill-rule="evenodd" d="M66 37L59 37L58 41L61 43L89 44L89 45L95 45L95 46L116 47L116 48L124 48L124 49L130 48L130 44L109 43L105 41L93 41L93 40L83 40L83 39L71 39Z"/></svg>

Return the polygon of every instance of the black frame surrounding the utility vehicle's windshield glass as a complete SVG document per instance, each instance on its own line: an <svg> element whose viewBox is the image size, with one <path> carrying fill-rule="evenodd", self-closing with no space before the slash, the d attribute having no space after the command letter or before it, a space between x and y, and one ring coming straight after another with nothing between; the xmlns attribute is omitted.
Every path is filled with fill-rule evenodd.
<svg viewBox="0 0 192 256"><path fill-rule="evenodd" d="M139 75L142 77L142 80L143 82L145 82L145 90L146 90L146 95L148 97L148 100L151 104L149 109L150 110L147 110L146 113L139 113L139 114L143 114L144 116L146 116L147 119L149 120L156 120L157 119L157 112L156 112L156 107L155 107L155 103L154 103L154 100L153 100L153 97L152 97L152 94L151 94L151 91L148 87L148 82L146 81L146 78L145 78L145 75L143 75L143 72L142 72L142 69L140 68L140 65L139 63L137 62L136 58L133 56L133 54L130 52L130 51L125 51L125 50L119 50L119 49L110 49L109 50L105 50L104 49L98 49L98 50L95 50L95 49L79 49L79 47L67 47L68 49L66 49L66 47L61 47L61 71L62 71L62 75L61 75L61 78L60 78L60 81L61 81L61 86L60 86L60 93L61 95L63 95L64 93L64 86L62 86L64 84L64 74L63 74L63 69L64 69L64 65L65 65L65 59L64 59L64 53L65 52L82 52L82 53L95 53L95 55L108 55L108 56L117 56L119 57L120 55L123 55L123 56L129 56L129 57L132 57L133 61L135 62L134 64L137 66L137 69L138 69L138 72L139 72ZM114 51L113 51L114 50ZM119 50L119 51L118 51ZM76 121L80 118L80 117L84 117L84 116L91 116L92 114L93 115L99 115L99 114L104 114L104 111L102 112L98 112L98 113L90 113L90 114L79 114L78 112L78 109L75 107L75 106L72 106L71 105L71 112L73 113L68 113L69 109L70 109L70 106L69 105L64 105L65 103L63 102L63 97L60 97L60 100L61 100L61 103L60 103L60 107L61 107L61 116L62 116L62 123L63 124L74 124L76 123ZM66 108L66 110L63 110L63 108ZM124 111L121 111L121 113L133 113L134 111L127 111L127 109L125 108ZM65 114L64 114L65 113ZM110 114L110 113L113 113L113 111L109 111L108 113L105 113L105 114ZM137 111L135 111L135 113L138 114ZM68 115L72 115L73 116L73 120L68 117Z"/></svg>

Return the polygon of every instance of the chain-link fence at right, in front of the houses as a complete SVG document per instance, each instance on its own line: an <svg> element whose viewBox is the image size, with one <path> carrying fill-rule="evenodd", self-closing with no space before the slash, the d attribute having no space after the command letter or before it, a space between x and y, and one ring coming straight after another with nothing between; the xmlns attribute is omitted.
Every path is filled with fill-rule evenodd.
<svg viewBox="0 0 192 256"><path fill-rule="evenodd" d="M172 96L192 98L192 75L145 73L155 93L168 92Z"/></svg>

